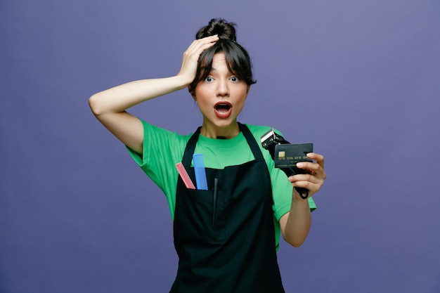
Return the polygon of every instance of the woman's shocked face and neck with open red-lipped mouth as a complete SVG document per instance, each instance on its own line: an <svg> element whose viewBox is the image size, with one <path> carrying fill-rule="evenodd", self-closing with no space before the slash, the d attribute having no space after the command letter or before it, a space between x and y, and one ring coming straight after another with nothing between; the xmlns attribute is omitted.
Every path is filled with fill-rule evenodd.
<svg viewBox="0 0 440 293"><path fill-rule="evenodd" d="M208 77L195 87L193 94L203 115L201 133L210 138L232 138L238 130L240 114L250 86L228 70L224 53L212 58Z"/></svg>

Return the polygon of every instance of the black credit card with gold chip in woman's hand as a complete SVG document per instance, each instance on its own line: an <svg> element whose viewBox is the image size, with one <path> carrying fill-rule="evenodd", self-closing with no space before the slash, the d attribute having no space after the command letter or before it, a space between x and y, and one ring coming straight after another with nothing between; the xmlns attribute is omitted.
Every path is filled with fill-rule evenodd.
<svg viewBox="0 0 440 293"><path fill-rule="evenodd" d="M313 143L286 143L275 145L273 161L276 168L297 167L297 162L313 162L307 153L313 152Z"/></svg>

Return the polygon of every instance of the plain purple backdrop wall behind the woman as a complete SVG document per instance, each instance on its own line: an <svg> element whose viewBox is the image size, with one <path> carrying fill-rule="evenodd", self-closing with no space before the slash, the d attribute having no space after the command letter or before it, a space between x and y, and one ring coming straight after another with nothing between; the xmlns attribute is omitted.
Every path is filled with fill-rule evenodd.
<svg viewBox="0 0 440 293"><path fill-rule="evenodd" d="M241 122L315 143L328 180L287 292L440 291L439 1L0 1L0 292L168 292L164 196L91 94L180 69L210 18L254 61ZM181 134L186 90L134 115Z"/></svg>

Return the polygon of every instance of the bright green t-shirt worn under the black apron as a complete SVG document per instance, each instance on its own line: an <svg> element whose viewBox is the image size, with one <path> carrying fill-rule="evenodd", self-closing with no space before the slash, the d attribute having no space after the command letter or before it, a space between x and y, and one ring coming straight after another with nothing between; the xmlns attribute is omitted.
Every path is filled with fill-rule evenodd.
<svg viewBox="0 0 440 293"><path fill-rule="evenodd" d="M182 136L175 132L150 125L143 120L141 122L144 132L143 154L139 155L128 148L129 153L145 174L163 191L167 197L169 211L174 220L176 186L179 177L175 165L181 162L186 143L188 143L192 134ZM271 177L273 223L275 226L276 247L278 249L280 238L280 224L278 221L281 216L290 211L292 184L287 180L283 171L274 167L271 155L259 143L261 136L271 128L268 126L246 125L263 153ZM243 164L254 159L252 150L250 150L246 138L241 132L238 136L231 139L207 138L200 134L194 153L203 154L205 167L214 169L224 169L226 166ZM316 209L316 205L311 197L309 197L309 207L311 211Z"/></svg>

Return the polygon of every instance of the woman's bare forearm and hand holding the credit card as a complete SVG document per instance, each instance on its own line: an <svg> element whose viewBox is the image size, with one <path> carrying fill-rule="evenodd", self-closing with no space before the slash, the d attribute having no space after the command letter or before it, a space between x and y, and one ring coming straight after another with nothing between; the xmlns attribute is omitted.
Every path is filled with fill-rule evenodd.
<svg viewBox="0 0 440 293"><path fill-rule="evenodd" d="M307 188L309 196L317 193L321 189L325 180L324 157L316 153L309 153L307 157L314 159L314 162L301 162L298 168L305 169L308 174L298 174L290 176L289 181L294 187ZM309 201L303 200L297 190L292 192L292 204L290 211L280 218L280 228L283 238L293 247L299 247L306 240L311 226L311 213Z"/></svg>

